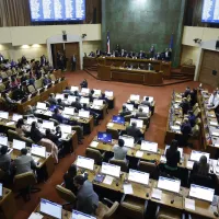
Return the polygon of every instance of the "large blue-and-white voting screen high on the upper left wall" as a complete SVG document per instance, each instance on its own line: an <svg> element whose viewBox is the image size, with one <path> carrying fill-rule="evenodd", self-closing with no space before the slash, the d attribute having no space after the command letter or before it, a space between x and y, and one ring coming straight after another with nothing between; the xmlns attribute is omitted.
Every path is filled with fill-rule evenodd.
<svg viewBox="0 0 219 219"><path fill-rule="evenodd" d="M33 22L83 21L85 0L30 0Z"/></svg>

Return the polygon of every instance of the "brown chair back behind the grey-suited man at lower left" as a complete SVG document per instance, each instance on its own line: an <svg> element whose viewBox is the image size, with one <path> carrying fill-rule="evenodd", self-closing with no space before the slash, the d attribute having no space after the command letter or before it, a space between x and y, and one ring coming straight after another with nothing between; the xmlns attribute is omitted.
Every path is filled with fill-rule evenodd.
<svg viewBox="0 0 219 219"><path fill-rule="evenodd" d="M26 188L27 186L32 186L35 184L36 184L36 177L34 173L32 172L21 173L14 176L13 189L20 191L22 188Z"/></svg>

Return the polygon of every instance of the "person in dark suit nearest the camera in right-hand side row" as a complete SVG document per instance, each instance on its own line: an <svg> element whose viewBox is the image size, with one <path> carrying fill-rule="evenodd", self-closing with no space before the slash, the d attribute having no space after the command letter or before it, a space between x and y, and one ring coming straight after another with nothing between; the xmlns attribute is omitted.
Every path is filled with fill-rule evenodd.
<svg viewBox="0 0 219 219"><path fill-rule="evenodd" d="M181 147L186 147L189 135L192 132L192 127L191 127L191 124L188 122L188 118L184 118L184 120L181 125L181 132L182 132L182 135L178 136L178 145Z"/></svg>

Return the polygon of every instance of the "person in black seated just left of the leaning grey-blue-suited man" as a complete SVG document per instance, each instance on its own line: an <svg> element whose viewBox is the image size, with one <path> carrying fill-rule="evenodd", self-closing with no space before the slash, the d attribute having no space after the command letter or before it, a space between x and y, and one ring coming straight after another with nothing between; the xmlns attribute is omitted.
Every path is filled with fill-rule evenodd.
<svg viewBox="0 0 219 219"><path fill-rule="evenodd" d="M73 185L73 178L77 175L76 164L71 164L68 172L64 174L65 187L71 191L74 195L77 194L77 187Z"/></svg>

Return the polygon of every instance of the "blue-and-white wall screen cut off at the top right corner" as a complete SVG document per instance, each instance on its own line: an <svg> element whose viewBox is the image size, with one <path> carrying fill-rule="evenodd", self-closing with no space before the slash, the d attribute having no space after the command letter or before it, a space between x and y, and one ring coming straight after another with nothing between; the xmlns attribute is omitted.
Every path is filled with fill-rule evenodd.
<svg viewBox="0 0 219 219"><path fill-rule="evenodd" d="M204 0L201 22L219 23L219 0Z"/></svg>

